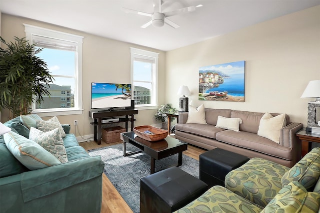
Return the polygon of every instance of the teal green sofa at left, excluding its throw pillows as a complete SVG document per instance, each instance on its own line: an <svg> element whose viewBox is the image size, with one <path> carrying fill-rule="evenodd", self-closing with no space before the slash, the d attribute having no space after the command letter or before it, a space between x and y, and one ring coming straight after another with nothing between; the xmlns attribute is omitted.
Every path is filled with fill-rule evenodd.
<svg viewBox="0 0 320 213"><path fill-rule="evenodd" d="M28 134L19 116L4 125ZM100 213L104 164L78 145L69 125L62 127L68 162L32 171L14 158L0 136L0 213Z"/></svg>

